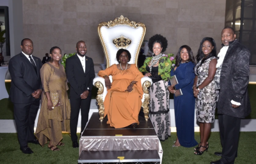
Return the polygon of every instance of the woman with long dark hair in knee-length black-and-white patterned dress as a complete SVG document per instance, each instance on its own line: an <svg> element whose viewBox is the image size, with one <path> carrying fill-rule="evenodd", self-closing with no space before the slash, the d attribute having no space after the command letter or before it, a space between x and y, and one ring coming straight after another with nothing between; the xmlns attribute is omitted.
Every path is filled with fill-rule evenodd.
<svg viewBox="0 0 256 164"><path fill-rule="evenodd" d="M196 55L195 81L193 85L196 97L196 120L200 123L200 144L195 148L196 155L202 155L209 148L208 139L211 123L214 123L218 91L214 76L216 73L216 43L212 38L205 37Z"/></svg>

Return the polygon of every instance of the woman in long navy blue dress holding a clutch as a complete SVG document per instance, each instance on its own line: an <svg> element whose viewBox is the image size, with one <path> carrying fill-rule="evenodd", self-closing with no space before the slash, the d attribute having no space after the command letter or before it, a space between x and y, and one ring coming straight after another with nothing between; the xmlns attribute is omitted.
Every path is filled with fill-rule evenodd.
<svg viewBox="0 0 256 164"><path fill-rule="evenodd" d="M193 83L195 57L188 45L182 45L176 56L175 67L171 71L171 76L176 75L179 84L175 89L181 89L182 95L174 95L175 124L177 129L177 140L173 147L193 147L198 143L195 140L194 118L195 118L195 97L193 94ZM175 89L169 82L168 90L175 93Z"/></svg>

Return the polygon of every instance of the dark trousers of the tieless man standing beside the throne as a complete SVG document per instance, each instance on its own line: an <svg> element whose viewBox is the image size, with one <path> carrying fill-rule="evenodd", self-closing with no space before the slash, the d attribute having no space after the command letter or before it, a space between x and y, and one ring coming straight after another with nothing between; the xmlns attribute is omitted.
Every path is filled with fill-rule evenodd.
<svg viewBox="0 0 256 164"><path fill-rule="evenodd" d="M91 104L91 97L89 96L86 99L70 97L70 106L71 106L70 133L71 133L72 142L77 142L76 131L77 131L79 110L81 108L81 132L82 132L86 126L86 123L88 122L90 104Z"/></svg>

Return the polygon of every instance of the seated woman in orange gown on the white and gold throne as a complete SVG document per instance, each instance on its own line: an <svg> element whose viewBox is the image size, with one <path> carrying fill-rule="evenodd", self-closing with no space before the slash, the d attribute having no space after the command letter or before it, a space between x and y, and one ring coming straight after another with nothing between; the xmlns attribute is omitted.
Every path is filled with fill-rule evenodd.
<svg viewBox="0 0 256 164"><path fill-rule="evenodd" d="M116 53L119 64L113 64L98 73L99 77L105 79L108 89L104 100L104 117L108 115L108 124L115 128L124 128L129 125L136 128L139 124L143 75L135 64L128 64L130 59L130 52L121 48ZM109 75L112 75L112 84Z"/></svg>

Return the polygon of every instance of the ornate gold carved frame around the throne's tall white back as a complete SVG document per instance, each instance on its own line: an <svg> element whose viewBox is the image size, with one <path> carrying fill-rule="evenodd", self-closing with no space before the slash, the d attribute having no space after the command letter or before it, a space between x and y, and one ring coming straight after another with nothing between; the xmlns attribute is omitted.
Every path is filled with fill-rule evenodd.
<svg viewBox="0 0 256 164"><path fill-rule="evenodd" d="M108 54L108 49L104 43L104 40L103 40L103 37L102 37L102 34L100 33L100 28L101 27L108 27L108 28L111 28L111 27L115 27L115 26L129 26L129 27L132 27L132 28L138 28L138 27L142 27L143 28L143 32L142 32L142 36L138 36L138 37L141 37L140 39L140 43L138 43L138 48L136 49L136 54L135 54L135 65L137 66L137 63L138 63L138 56L139 56L139 53L140 53L140 47L141 47L141 44L144 40L144 36L145 36L145 33L146 33L146 26L145 24L143 23L136 23L134 21L131 21L129 20L128 18L125 18L123 15L121 15L120 17L117 17L115 20L110 20L109 22L101 22L98 26L98 34L99 34L99 38L100 38L100 43L103 47L103 50L104 50L104 54L105 54L105 57L106 57L106 61L107 61L107 68L110 66L109 65L109 54Z"/></svg>

